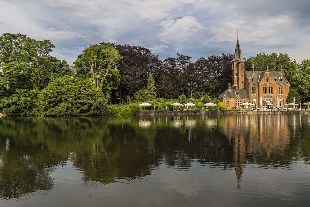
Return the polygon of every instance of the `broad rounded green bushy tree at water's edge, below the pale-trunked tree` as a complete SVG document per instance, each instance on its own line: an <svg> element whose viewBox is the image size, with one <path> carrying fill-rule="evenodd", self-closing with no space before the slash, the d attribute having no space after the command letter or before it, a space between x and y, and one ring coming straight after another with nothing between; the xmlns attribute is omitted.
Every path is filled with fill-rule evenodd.
<svg viewBox="0 0 310 207"><path fill-rule="evenodd" d="M52 80L38 96L38 115L106 115L106 110L104 94L90 79L66 75Z"/></svg>

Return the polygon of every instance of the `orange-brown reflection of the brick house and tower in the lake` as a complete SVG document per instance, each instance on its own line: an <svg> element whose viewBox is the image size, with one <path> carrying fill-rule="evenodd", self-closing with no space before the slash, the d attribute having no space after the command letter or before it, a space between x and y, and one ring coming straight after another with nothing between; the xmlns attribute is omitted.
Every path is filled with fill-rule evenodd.
<svg viewBox="0 0 310 207"><path fill-rule="evenodd" d="M272 154L284 157L290 145L289 119L285 115L228 115L222 119L221 130L233 148L238 188L247 160L255 162L262 155L268 159ZM296 115L292 125L295 132Z"/></svg>

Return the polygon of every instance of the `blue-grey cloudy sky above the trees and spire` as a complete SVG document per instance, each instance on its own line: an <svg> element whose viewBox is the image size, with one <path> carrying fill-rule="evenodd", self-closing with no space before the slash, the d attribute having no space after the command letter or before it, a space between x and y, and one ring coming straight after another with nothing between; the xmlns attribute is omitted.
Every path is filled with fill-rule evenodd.
<svg viewBox="0 0 310 207"><path fill-rule="evenodd" d="M161 59L233 53L287 53L310 59L308 0L0 0L0 35L48 39L72 64L85 43L149 48Z"/></svg>

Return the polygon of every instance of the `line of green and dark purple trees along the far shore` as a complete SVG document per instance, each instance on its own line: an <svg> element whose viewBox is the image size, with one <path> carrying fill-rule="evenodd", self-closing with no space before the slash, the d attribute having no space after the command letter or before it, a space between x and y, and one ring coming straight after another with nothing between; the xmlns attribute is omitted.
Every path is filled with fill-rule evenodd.
<svg viewBox="0 0 310 207"><path fill-rule="evenodd" d="M53 48L49 40L38 41L23 34L0 36L2 114L131 115L138 113L140 102L165 109L181 95L200 103L208 94L209 101L216 102L232 80L232 54L197 61L177 54L161 60L145 47L102 42L85 45L70 66L50 56ZM309 60L299 65L286 54L263 53L250 57L247 65L265 70L270 61L274 62L270 70L283 65L291 88L303 100L309 99Z"/></svg>

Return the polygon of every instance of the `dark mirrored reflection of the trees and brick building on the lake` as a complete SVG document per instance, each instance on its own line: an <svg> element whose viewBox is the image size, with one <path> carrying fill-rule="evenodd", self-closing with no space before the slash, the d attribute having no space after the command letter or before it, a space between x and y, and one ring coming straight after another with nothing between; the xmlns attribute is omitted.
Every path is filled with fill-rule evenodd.
<svg viewBox="0 0 310 207"><path fill-rule="evenodd" d="M50 173L63 162L72 163L84 182L104 184L143 178L162 166L193 171L199 164L234 170L240 189L249 163L310 163L309 126L309 115L2 117L0 197L50 190Z"/></svg>

